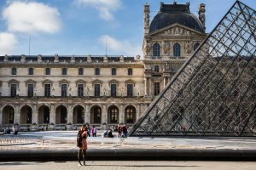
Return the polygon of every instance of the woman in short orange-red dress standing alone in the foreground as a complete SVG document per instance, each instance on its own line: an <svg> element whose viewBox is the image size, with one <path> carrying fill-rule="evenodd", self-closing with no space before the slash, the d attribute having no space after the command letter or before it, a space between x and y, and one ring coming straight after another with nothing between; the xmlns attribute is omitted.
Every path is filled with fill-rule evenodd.
<svg viewBox="0 0 256 170"><path fill-rule="evenodd" d="M84 125L82 125L81 129L79 130L78 136L77 136L77 146L79 147L79 154L78 154L78 160L79 160L79 166L82 166L82 163L80 161L80 155L83 155L83 161L85 166L85 153L87 150L87 134L88 129Z"/></svg>

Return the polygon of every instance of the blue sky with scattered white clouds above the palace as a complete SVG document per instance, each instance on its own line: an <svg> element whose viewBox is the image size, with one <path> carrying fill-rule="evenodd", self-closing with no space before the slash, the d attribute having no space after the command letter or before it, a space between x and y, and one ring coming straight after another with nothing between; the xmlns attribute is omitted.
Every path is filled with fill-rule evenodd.
<svg viewBox="0 0 256 170"><path fill-rule="evenodd" d="M0 0L0 55L143 55L143 5L153 20L160 2L174 0ZM205 3L209 33L236 1L176 2L197 16ZM256 0L241 2L256 8Z"/></svg>

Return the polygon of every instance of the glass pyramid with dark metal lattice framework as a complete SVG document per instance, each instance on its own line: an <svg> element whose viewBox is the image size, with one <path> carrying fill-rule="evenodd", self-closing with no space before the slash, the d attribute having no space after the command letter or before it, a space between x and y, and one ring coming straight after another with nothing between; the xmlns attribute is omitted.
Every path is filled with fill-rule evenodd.
<svg viewBox="0 0 256 170"><path fill-rule="evenodd" d="M130 136L255 136L256 13L236 1Z"/></svg>

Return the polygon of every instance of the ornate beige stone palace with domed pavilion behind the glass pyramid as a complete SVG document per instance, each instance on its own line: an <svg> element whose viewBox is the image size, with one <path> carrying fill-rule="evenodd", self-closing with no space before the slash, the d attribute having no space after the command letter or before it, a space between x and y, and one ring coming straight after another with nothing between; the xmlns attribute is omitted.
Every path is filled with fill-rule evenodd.
<svg viewBox="0 0 256 170"><path fill-rule="evenodd" d="M207 37L205 4L143 8L143 57L0 56L0 126L132 126Z"/></svg>

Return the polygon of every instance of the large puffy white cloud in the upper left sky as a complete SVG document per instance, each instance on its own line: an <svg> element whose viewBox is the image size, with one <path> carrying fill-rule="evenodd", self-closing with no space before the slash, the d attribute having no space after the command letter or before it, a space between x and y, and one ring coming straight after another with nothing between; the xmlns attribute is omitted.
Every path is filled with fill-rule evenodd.
<svg viewBox="0 0 256 170"><path fill-rule="evenodd" d="M56 8L44 3L10 3L3 10L3 20L6 20L8 30L21 33L47 32L60 30L60 13Z"/></svg>

